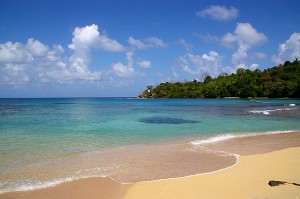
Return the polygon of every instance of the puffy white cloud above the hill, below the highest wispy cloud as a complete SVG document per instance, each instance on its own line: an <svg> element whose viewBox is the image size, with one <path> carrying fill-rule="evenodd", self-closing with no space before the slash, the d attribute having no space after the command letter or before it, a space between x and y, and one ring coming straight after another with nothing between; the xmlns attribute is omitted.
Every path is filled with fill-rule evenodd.
<svg viewBox="0 0 300 199"><path fill-rule="evenodd" d="M258 32L249 23L238 23L234 33L227 33L222 42L227 47L237 46L238 49L232 55L232 62L235 65L242 64L248 57L249 49L261 45L267 41L267 37Z"/></svg>

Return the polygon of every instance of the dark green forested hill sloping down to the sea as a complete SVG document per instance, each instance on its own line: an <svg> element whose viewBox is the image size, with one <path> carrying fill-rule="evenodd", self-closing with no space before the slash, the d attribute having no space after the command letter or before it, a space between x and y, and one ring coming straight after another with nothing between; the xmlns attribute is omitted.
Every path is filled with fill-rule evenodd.
<svg viewBox="0 0 300 199"><path fill-rule="evenodd" d="M300 61L260 70L238 69L236 74L206 76L203 82L166 82L147 86L140 98L300 98Z"/></svg>

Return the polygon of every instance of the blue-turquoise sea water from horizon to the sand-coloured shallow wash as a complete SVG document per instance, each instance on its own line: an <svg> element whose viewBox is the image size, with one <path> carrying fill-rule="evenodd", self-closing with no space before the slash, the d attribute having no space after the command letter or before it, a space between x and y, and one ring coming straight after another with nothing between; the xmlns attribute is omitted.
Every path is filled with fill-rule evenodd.
<svg viewBox="0 0 300 199"><path fill-rule="evenodd" d="M300 131L299 105L290 99L0 99L0 193L28 180L9 173L85 152Z"/></svg>

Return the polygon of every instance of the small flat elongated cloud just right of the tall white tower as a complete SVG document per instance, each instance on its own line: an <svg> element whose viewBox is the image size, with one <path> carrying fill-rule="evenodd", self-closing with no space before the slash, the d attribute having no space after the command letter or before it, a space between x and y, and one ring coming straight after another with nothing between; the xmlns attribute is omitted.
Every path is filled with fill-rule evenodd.
<svg viewBox="0 0 300 199"><path fill-rule="evenodd" d="M136 47L138 49L148 49L148 48L165 48L167 44L157 37L147 37L144 40L135 39L134 37L130 36L128 38L128 43Z"/></svg>

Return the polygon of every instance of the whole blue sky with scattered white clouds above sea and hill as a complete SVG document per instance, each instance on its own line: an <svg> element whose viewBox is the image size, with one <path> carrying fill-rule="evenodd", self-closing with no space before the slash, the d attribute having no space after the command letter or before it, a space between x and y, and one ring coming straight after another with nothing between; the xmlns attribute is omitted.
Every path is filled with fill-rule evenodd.
<svg viewBox="0 0 300 199"><path fill-rule="evenodd" d="M299 0L0 0L0 98L135 97L300 57Z"/></svg>

